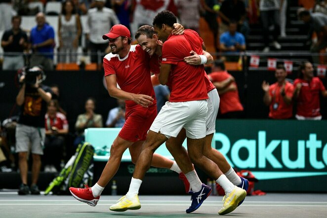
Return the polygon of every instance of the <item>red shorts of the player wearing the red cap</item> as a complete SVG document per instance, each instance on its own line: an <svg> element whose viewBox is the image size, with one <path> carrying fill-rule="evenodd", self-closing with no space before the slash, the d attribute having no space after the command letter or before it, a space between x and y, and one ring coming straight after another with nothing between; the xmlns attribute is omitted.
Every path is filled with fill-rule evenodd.
<svg viewBox="0 0 327 218"><path fill-rule="evenodd" d="M148 130L157 116L157 104L149 108L135 106L135 108L126 108L126 121L119 137L130 142L144 141L147 137Z"/></svg>

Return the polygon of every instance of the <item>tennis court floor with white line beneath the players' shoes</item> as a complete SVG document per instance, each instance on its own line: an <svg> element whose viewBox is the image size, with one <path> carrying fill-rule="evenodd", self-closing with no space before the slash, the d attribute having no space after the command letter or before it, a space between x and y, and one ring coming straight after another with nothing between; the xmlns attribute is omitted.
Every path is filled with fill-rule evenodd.
<svg viewBox="0 0 327 218"><path fill-rule="evenodd" d="M188 195L140 195L138 211L112 212L109 206L121 196L104 195L96 207L75 200L72 196L19 196L14 191L0 192L1 218L82 218L82 217L148 217L148 218L213 218L218 217L222 196L209 196L194 213L186 214L190 206ZM234 212L225 215L239 218L326 218L327 194L267 193L247 196Z"/></svg>

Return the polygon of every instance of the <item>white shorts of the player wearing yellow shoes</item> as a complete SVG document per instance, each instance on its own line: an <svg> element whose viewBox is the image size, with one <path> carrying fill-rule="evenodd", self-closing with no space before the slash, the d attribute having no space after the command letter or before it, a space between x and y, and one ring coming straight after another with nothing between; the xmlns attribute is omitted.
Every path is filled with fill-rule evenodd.
<svg viewBox="0 0 327 218"><path fill-rule="evenodd" d="M205 117L207 101L166 102L153 121L150 130L160 132L168 139L177 137L184 127L186 137L202 139L205 137Z"/></svg>

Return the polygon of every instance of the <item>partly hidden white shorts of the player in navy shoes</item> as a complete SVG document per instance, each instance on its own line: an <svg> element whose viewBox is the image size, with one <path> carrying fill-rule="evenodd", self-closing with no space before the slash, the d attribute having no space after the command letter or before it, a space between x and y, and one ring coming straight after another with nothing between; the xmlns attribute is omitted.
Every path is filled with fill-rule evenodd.
<svg viewBox="0 0 327 218"><path fill-rule="evenodd" d="M205 134L210 135L216 132L216 118L218 114L220 98L217 89L212 89L208 92L208 112L205 121Z"/></svg>

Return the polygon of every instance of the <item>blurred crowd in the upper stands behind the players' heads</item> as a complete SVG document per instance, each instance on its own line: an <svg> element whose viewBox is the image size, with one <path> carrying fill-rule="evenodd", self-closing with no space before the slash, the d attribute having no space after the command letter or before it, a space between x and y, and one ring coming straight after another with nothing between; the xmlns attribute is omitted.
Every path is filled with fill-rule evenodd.
<svg viewBox="0 0 327 218"><path fill-rule="evenodd" d="M298 18L308 24L310 51L319 53L327 46L327 3L325 0L305 2L298 0L299 6L310 7L299 11ZM283 50L280 40L286 37L289 3L289 0L4 0L0 3L2 69L17 70L21 65L41 64L45 70L53 70L57 63L77 63L82 67L97 63L99 70L108 47L101 36L112 25L125 25L133 36L138 27L151 25L154 16L165 9L175 13L185 28L197 31L200 36L206 34L200 26L203 18L206 24L202 25L208 27L204 31L213 35L212 41L206 41L214 48L209 52L247 50L250 27L256 24L262 26L263 52L272 48ZM28 18L33 16L36 25L31 24L34 19ZM20 26L26 24L27 18L28 27ZM316 41L312 40L313 32ZM23 56L23 51L32 54L31 58ZM314 63L319 63L317 57L314 56ZM19 60L19 64L13 66L12 60Z"/></svg>

